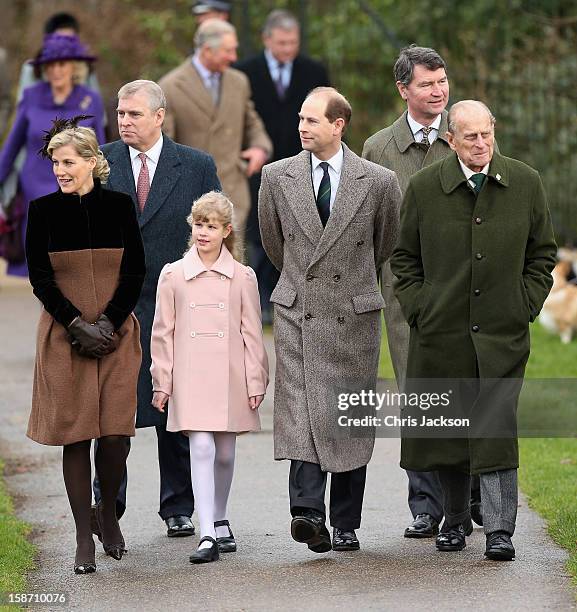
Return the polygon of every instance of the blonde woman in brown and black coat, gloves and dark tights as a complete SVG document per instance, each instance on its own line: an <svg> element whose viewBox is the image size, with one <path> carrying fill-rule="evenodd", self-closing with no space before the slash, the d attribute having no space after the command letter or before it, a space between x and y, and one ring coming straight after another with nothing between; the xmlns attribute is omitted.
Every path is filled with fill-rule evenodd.
<svg viewBox="0 0 577 612"><path fill-rule="evenodd" d="M106 554L121 559L115 500L134 435L139 328L132 314L144 280L142 238L129 196L103 189L109 168L94 132L55 122L43 154L60 189L30 203L26 255L44 308L37 334L28 436L62 445L64 482L76 523L77 574L96 570L90 525L90 446L102 501Z"/></svg>

